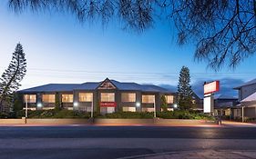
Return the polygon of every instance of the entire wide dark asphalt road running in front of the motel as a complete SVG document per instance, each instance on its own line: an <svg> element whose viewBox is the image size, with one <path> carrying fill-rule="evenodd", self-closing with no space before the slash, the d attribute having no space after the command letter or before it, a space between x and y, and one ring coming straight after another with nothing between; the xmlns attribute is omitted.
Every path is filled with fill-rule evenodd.
<svg viewBox="0 0 256 159"><path fill-rule="evenodd" d="M196 150L256 151L255 127L0 127L0 158L110 159Z"/></svg>

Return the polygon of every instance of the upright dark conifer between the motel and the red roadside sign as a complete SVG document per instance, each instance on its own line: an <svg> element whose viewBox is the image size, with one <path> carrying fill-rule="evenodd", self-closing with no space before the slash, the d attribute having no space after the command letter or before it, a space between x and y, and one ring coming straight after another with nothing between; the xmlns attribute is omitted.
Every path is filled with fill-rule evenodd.
<svg viewBox="0 0 256 159"><path fill-rule="evenodd" d="M190 85L189 68L182 66L179 72L178 104L179 109L188 110L192 108L192 90Z"/></svg>

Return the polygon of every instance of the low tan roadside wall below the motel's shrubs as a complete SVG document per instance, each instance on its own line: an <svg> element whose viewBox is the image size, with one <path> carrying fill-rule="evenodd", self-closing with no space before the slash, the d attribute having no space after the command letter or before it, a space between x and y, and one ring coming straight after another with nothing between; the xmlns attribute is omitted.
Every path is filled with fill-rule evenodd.
<svg viewBox="0 0 256 159"><path fill-rule="evenodd" d="M0 119L0 124L96 124L96 125L173 125L173 126L189 126L189 125L216 125L214 121L205 120L189 120L189 119Z"/></svg>

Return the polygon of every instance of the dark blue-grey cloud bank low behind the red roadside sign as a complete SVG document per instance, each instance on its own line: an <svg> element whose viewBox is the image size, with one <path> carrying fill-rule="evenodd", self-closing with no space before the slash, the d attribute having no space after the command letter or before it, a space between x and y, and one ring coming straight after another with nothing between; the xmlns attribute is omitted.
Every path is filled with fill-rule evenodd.
<svg viewBox="0 0 256 159"><path fill-rule="evenodd" d="M204 82L213 81L214 79L205 78L196 80L191 84L192 90L198 94L201 98L203 97L203 84ZM220 92L216 94L225 94L229 96L238 96L238 91L233 88L243 84L244 81L238 78L221 78L220 79ZM170 91L177 91L177 85L171 84L159 84L159 86L169 89Z"/></svg>

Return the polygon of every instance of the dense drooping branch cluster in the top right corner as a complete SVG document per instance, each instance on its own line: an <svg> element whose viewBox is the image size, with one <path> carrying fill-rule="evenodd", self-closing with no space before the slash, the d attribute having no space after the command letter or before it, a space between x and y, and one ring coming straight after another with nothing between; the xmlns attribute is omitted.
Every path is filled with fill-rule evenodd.
<svg viewBox="0 0 256 159"><path fill-rule="evenodd" d="M179 44L195 41L195 57L215 70L255 54L255 0L182 0L172 7Z"/></svg>

